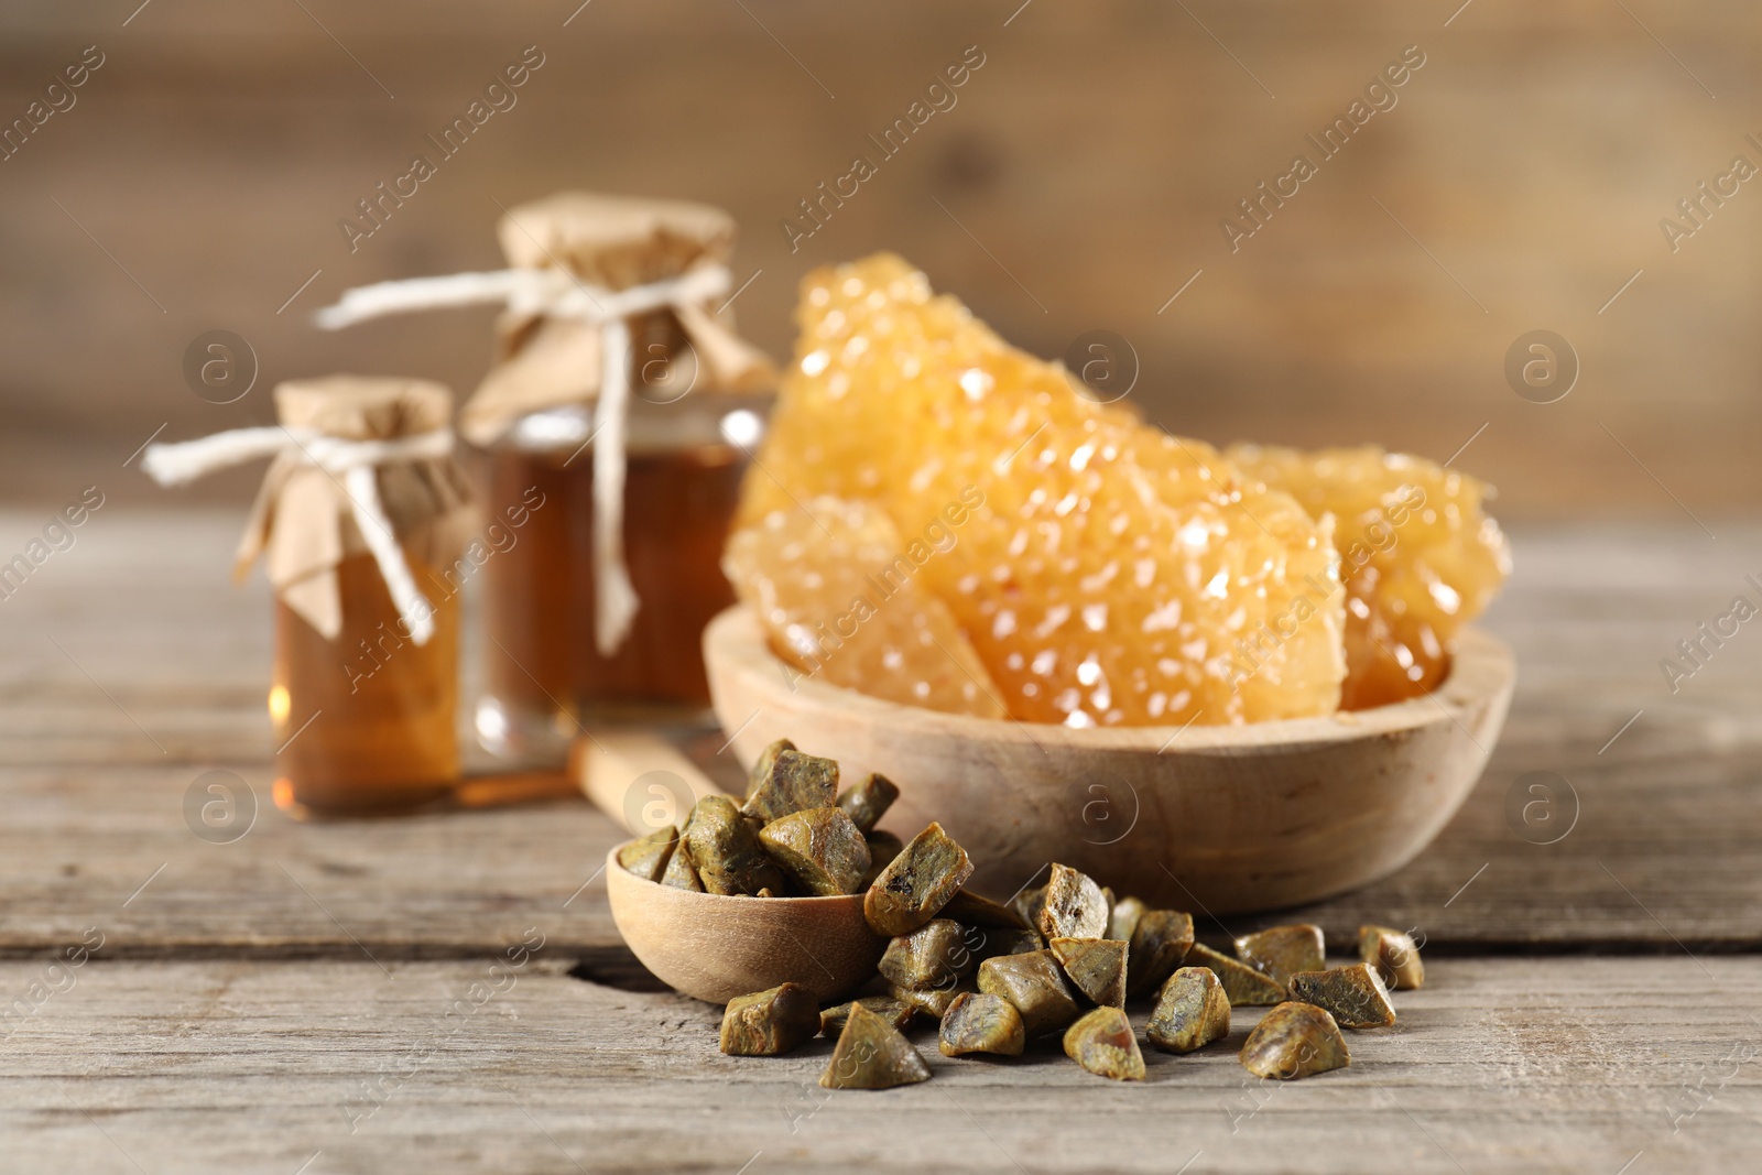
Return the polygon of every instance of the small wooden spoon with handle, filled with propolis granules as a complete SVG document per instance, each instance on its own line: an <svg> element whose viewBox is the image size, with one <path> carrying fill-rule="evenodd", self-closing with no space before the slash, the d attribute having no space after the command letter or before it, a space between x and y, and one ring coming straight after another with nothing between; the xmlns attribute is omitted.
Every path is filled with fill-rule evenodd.
<svg viewBox="0 0 1762 1175"><path fill-rule="evenodd" d="M682 824L698 796L721 794L691 759L650 733L596 731L576 745L571 770L581 791L634 833L654 831L643 826L645 812L661 817L655 824ZM678 784L655 772L671 773ZM671 812L663 810L668 807ZM631 874L618 865L622 847L606 854L611 920L643 967L685 995L726 1004L779 983L800 983L819 1002L832 1004L874 976L886 950L886 939L863 921L860 893L830 898L692 893Z"/></svg>

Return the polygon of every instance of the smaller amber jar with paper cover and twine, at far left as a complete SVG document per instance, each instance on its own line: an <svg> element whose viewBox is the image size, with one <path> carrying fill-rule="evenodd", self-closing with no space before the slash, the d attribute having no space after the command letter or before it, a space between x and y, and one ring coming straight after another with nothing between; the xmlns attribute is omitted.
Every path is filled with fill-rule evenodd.
<svg viewBox="0 0 1762 1175"><path fill-rule="evenodd" d="M236 573L263 553L275 590L273 794L296 816L409 810L458 782L458 585L474 506L451 456L451 402L425 381L294 381L275 389L282 428L152 454L155 476L275 454Z"/></svg>

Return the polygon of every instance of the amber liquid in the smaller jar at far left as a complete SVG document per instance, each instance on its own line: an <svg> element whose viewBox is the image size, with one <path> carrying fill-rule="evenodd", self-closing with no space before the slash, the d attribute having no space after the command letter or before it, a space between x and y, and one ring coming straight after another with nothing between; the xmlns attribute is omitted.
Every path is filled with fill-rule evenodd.
<svg viewBox="0 0 1762 1175"><path fill-rule="evenodd" d="M409 562L419 587L437 581ZM372 555L344 558L337 590L342 632L333 641L275 602L277 807L366 816L446 798L460 777L458 597L425 587L435 631L418 645Z"/></svg>

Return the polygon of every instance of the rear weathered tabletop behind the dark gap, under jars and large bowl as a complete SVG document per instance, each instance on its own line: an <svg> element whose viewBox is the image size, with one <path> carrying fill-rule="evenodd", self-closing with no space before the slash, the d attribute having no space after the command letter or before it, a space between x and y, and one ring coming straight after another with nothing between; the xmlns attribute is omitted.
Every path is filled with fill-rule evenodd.
<svg viewBox="0 0 1762 1175"><path fill-rule="evenodd" d="M37 525L0 516L0 550ZM617 837L583 803L338 824L268 807L266 597L224 578L236 525L227 513L100 511L0 602L0 953L102 925L123 955L456 957L543 918L599 965L626 958L601 883L581 890ZM1492 766L1408 868L1302 916L1336 942L1360 921L1415 927L1438 951L1762 946L1762 659L1750 647L1762 638L1746 627L1677 696L1656 664L1741 590L1762 536L1721 530L1720 543L1663 528L1521 534L1517 578L1489 620L1521 666ZM712 765L719 742L703 747ZM234 772L257 798L234 844L185 823L185 794L208 770ZM1579 821L1558 844L1529 844L1507 819L1514 780L1535 770L1577 789Z"/></svg>

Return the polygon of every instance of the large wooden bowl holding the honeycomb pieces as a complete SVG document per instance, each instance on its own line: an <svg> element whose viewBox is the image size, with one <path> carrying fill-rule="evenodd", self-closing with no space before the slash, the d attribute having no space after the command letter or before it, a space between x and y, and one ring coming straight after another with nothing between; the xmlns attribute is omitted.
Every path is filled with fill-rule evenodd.
<svg viewBox="0 0 1762 1175"><path fill-rule="evenodd" d="M1427 698L1249 726L1070 729L786 675L738 606L705 631L703 654L742 763L791 738L846 779L886 775L900 796L883 824L909 839L941 821L980 891L1010 895L1062 861L1193 914L1314 902L1406 865L1480 777L1515 680L1510 648L1470 629Z"/></svg>

